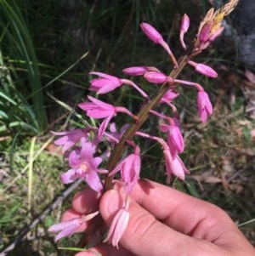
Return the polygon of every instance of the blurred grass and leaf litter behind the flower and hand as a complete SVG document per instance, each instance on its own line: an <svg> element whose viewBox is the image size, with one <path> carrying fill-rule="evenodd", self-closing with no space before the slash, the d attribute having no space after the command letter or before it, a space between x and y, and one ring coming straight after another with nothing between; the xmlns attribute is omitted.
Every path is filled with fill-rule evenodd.
<svg viewBox="0 0 255 256"><path fill-rule="evenodd" d="M190 15L186 41L191 42L210 7L207 0L182 1L181 5L176 0L0 0L0 250L22 235L66 189L59 174L67 164L49 131L82 126L76 105L88 93L88 71L118 76L131 65L155 65L169 71L172 64L166 54L144 37L139 23L156 26L178 57L181 15ZM186 143L183 159L191 174L171 185L217 204L237 225L245 224L255 218L255 128L245 97L247 88L254 88L254 67L236 60L231 33L196 60L212 65L218 79L198 76L189 68L180 78L207 88L214 113L207 124L201 124L195 92L182 89L177 106ZM128 88L105 100L132 111L137 105ZM154 122L147 122L146 129L155 128ZM147 149L142 176L165 183L160 149L149 141L142 143ZM29 229L8 255L67 255L57 249L47 228L70 206L73 193ZM253 243L254 227L254 221L241 225ZM77 237L58 245L73 246Z"/></svg>

